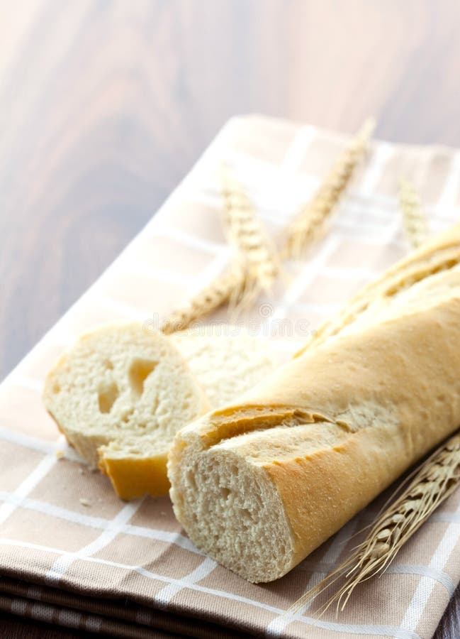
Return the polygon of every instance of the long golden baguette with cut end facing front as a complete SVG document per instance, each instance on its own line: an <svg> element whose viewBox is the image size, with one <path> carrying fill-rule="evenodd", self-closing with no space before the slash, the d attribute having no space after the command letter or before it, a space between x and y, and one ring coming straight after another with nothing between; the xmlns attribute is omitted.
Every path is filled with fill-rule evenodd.
<svg viewBox="0 0 460 639"><path fill-rule="evenodd" d="M375 305L362 295L328 339L176 435L170 495L198 548L277 579L459 427L459 238L392 268Z"/></svg>

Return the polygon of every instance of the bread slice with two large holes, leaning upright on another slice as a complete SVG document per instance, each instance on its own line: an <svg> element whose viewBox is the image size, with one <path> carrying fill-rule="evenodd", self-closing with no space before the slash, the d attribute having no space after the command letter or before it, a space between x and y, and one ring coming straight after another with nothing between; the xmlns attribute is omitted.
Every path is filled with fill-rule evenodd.
<svg viewBox="0 0 460 639"><path fill-rule="evenodd" d="M148 442L144 456L162 490L167 444L210 408L173 342L142 324L108 324L82 335L48 374L43 398L91 466L99 464L99 447L113 440Z"/></svg>

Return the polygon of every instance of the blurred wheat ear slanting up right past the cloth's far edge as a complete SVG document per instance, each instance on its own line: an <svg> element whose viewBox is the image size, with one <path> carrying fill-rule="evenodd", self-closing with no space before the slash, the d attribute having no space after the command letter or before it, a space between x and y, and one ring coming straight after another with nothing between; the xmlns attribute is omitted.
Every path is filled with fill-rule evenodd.
<svg viewBox="0 0 460 639"><path fill-rule="evenodd" d="M352 177L359 160L364 156L375 129L373 118L367 119L357 135L349 142L322 182L313 200L301 208L284 231L281 256L298 258L306 246L317 239L326 220L332 214L340 195Z"/></svg>

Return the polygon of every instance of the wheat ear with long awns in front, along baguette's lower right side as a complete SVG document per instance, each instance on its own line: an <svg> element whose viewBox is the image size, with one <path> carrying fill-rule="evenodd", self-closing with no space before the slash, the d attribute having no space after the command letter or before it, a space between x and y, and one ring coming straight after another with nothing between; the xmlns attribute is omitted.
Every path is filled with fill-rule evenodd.
<svg viewBox="0 0 460 639"><path fill-rule="evenodd" d="M388 567L405 542L459 485L459 432L420 464L409 480L403 493L378 516L364 542L334 572L301 596L291 606L291 612L300 610L342 578L344 584L322 606L322 612L333 603L337 604L337 611L343 610L358 584Z"/></svg>

